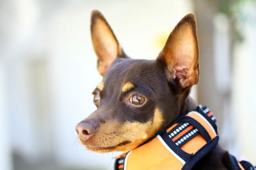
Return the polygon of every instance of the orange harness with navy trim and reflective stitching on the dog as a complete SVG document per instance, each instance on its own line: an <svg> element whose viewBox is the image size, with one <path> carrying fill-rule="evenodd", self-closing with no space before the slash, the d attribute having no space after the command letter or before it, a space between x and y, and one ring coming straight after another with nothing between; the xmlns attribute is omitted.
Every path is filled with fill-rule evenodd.
<svg viewBox="0 0 256 170"><path fill-rule="evenodd" d="M191 169L219 140L216 118L207 107L177 118L165 131L116 157L116 170ZM237 166L244 169L240 163Z"/></svg>

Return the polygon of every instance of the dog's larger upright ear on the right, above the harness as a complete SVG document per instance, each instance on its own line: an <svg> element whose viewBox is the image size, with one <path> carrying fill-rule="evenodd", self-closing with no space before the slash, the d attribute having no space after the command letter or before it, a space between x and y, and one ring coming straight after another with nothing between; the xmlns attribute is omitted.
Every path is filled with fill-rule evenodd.
<svg viewBox="0 0 256 170"><path fill-rule="evenodd" d="M198 42L195 15L186 15L175 26L157 57L169 81L178 80L182 89L198 82Z"/></svg>

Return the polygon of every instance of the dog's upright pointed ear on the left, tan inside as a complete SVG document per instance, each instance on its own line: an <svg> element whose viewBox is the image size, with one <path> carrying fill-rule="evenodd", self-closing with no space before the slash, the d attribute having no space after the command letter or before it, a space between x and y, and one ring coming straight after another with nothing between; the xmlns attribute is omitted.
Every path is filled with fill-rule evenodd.
<svg viewBox="0 0 256 170"><path fill-rule="evenodd" d="M126 55L100 11L92 11L91 33L93 48L98 57L97 68L99 73L104 76L113 60L126 57Z"/></svg>

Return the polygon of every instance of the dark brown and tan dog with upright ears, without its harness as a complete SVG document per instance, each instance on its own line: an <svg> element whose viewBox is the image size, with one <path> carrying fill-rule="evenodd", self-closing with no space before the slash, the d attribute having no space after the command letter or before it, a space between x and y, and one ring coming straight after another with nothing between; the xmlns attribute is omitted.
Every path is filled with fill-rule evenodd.
<svg viewBox="0 0 256 170"><path fill-rule="evenodd" d="M79 141L88 150L128 153L141 145L148 146L177 118L198 109L198 104L189 97L189 91L198 83L199 76L195 15L188 14L180 20L156 60L128 57L108 22L97 10L92 11L91 32L97 69L103 79L93 90L97 110L76 126ZM217 137L216 134L214 139ZM238 164L217 145L218 140L215 141L216 144L204 156L182 169L246 169L244 164ZM144 156L139 155L138 159ZM127 157L127 154L121 157ZM126 168L124 164L116 164L116 169ZM253 167L250 165L250 168ZM158 163L135 169L175 168Z"/></svg>

